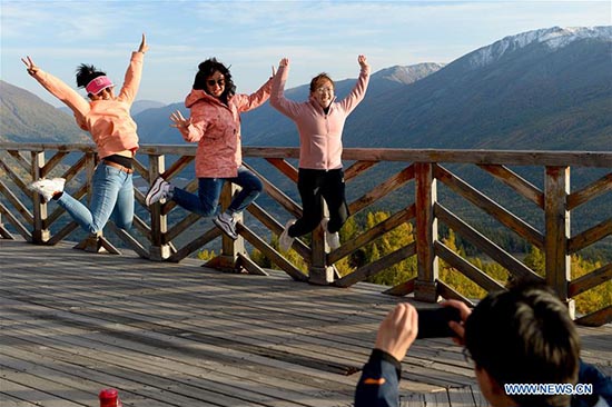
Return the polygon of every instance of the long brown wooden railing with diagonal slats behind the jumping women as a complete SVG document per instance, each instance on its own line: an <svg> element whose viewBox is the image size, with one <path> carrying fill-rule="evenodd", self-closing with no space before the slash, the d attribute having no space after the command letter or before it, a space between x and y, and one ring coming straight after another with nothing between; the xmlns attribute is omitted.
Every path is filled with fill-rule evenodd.
<svg viewBox="0 0 612 407"><path fill-rule="evenodd" d="M442 239L438 239L438 222L496 261L510 276L544 280L566 301L572 312L573 297L612 279L612 264L571 279L570 262L571 255L596 242L605 244L612 235L611 209L605 206L599 209L603 218L598 220L596 225L591 225L575 235L570 231L570 215L578 207L611 193L612 152L345 149L343 158L348 163L345 169L347 191L358 191L357 196L349 197L351 214L371 210L377 202L389 197L395 197L393 207L398 209L385 220L344 241L339 248L332 251L326 247L320 227L312 234L308 244L303 239L296 239L293 249L307 265L306 270L289 261L289 257L277 249L276 238L270 238L283 231L285 221L280 219L300 215L300 206L290 198L292 195L296 196L297 189L297 169L292 162L297 159L298 149L244 148L247 165L254 170L259 169L256 172L264 181L266 197L260 197L248 208L248 212L244 214L244 219L240 219L238 225L239 238L236 241L221 235L211 222L207 222L204 230L198 229L194 232L193 226L200 220L199 216L172 210L176 208L172 201L156 204L150 208L145 206L144 193L149 182L159 173L170 181L177 181L184 171L193 168L194 155L195 148L191 146L141 146L135 176L142 178L144 188L136 189L139 210L135 217L134 228L127 232L109 222L105 230L111 231L125 246L150 260L180 261L203 247L213 245L218 255L209 260L207 266L265 275L265 269L247 254L247 246L250 245L295 280L339 287L364 281L393 265L416 256L416 276L385 292L399 296L414 292L416 299L432 302L440 297L458 298L470 302L438 278L438 259L446 261L486 291L503 286L501 281L493 279L445 246ZM2 142L0 159L2 238L12 238L8 225L27 241L45 245L55 245L79 230L77 224L70 220L51 231L55 224L59 225L60 218L66 218L62 217L62 209L42 202L38 195L27 189L27 186L41 177L63 177L72 196L78 199L88 198L91 192L88 181L96 166L93 146ZM169 166L166 165L166 159L171 160ZM375 170L385 165L388 169ZM276 169L272 171L274 176L263 177L260 168L264 167L269 167L265 170L266 173L270 173L272 168ZM451 170L451 167L454 169ZM539 181L532 182L520 175L523 168L534 167L543 169L543 172L540 172L543 173L543 178ZM509 188L520 199L530 202L541 212L541 225L532 226L456 175L475 168L491 175L490 178L500 188ZM594 170L595 179L572 192L570 168L579 171ZM189 191L197 189L197 180L193 178L191 176L191 179L185 181L184 188ZM273 181L275 178L279 180ZM537 187L537 183L541 187ZM279 185L286 187L280 188ZM357 185L358 188L353 187ZM476 230L466 219L454 212L454 208L445 207L438 199L438 186L443 186L447 193L467 200L529 245L540 249L545 258L544 277L536 275L516 256ZM236 187L224 189L221 205L226 206L229 202L233 188ZM261 201L273 202L276 209L266 207L260 204ZM609 204L611 200L606 201ZM55 209L49 212L52 208ZM359 265L353 272L340 277L334 267L335 264L405 222L414 225L413 242L375 261ZM78 247L90 251L106 249L109 252L119 252L117 245L103 234L82 238ZM612 305L604 305L601 309L580 318L580 322L586 325L610 321Z"/></svg>

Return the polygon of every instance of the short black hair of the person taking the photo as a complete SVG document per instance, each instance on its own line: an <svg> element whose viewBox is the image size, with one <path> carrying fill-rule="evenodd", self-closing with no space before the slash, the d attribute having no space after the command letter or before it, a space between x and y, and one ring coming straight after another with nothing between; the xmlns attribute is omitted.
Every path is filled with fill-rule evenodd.
<svg viewBox="0 0 612 407"><path fill-rule="evenodd" d="M575 384L580 338L567 307L549 287L519 282L490 294L465 322L476 368L505 384ZM521 406L569 406L569 396L515 395Z"/></svg>

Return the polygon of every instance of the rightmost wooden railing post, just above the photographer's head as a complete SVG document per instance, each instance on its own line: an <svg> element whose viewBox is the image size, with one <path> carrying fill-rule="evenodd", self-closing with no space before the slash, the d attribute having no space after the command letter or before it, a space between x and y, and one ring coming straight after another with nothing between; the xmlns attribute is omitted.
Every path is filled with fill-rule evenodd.
<svg viewBox="0 0 612 407"><path fill-rule="evenodd" d="M544 179L545 216L545 280L559 298L567 305L570 315L575 318L575 302L569 298L571 259L567 252L570 239L570 167L546 167Z"/></svg>

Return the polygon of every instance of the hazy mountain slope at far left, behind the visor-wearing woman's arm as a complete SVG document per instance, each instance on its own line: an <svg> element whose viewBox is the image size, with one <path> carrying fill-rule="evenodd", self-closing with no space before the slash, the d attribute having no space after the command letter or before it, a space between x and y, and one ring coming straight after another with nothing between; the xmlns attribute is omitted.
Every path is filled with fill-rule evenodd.
<svg viewBox="0 0 612 407"><path fill-rule="evenodd" d="M0 80L0 141L90 142L71 115Z"/></svg>

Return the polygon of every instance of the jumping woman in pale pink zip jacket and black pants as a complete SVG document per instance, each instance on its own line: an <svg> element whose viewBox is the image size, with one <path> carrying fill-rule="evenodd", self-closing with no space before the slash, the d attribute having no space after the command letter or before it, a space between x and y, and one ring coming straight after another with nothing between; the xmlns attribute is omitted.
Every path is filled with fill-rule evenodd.
<svg viewBox="0 0 612 407"><path fill-rule="evenodd" d="M332 249L339 247L338 230L348 218L342 166L342 132L348 115L363 100L369 81L369 64L364 56L357 58L361 72L351 93L335 101L334 81L320 73L310 81L308 101L285 99L285 82L289 60L283 58L274 77L270 105L294 120L299 132L299 170L297 189L302 197L303 215L290 219L280 235L280 249L288 250L296 237L313 231L319 224L326 231ZM329 219L323 218L322 198L329 208Z"/></svg>

